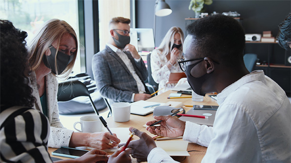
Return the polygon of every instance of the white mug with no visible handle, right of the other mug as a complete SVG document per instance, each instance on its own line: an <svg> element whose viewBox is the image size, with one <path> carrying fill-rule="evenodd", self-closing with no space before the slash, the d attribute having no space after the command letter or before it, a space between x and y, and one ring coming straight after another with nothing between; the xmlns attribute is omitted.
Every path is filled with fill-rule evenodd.
<svg viewBox="0 0 291 163"><path fill-rule="evenodd" d="M111 105L113 120L115 122L127 122L130 119L129 103L114 103Z"/></svg>

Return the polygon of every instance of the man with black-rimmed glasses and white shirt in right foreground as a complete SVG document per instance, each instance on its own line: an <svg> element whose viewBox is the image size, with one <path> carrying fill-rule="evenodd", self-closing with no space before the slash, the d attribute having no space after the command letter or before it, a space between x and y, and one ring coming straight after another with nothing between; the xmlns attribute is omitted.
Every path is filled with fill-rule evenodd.
<svg viewBox="0 0 291 163"><path fill-rule="evenodd" d="M230 16L213 15L196 20L187 31L185 60L178 63L195 93L218 93L213 127L159 116L146 122L146 130L164 137L183 136L208 147L202 163L290 163L290 101L262 70L249 73L245 68L240 23ZM160 126L150 126L159 120ZM149 135L129 130L140 137L128 146L138 162L175 162Z"/></svg>

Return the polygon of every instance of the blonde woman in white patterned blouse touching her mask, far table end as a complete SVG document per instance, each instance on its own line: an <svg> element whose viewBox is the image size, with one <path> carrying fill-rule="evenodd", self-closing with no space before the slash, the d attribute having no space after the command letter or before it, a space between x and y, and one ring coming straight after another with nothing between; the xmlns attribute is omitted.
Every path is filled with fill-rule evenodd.
<svg viewBox="0 0 291 163"><path fill-rule="evenodd" d="M176 86L176 83L167 83L171 73L181 73L178 59L183 58L184 33L179 27L172 27L166 33L162 43L152 51L150 56L152 77L159 83L158 92L161 94Z"/></svg>

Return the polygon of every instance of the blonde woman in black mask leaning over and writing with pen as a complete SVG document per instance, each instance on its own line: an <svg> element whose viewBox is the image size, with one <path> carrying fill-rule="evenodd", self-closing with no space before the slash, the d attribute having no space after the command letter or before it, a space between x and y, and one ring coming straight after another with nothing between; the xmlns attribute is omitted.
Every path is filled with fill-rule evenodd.
<svg viewBox="0 0 291 163"><path fill-rule="evenodd" d="M29 46L32 94L36 98L34 108L49 119L48 146L113 148L120 142L115 134L113 136L110 133L76 133L66 129L60 122L57 77L68 77L72 72L77 51L78 41L75 31L69 24L59 19L46 22Z"/></svg>

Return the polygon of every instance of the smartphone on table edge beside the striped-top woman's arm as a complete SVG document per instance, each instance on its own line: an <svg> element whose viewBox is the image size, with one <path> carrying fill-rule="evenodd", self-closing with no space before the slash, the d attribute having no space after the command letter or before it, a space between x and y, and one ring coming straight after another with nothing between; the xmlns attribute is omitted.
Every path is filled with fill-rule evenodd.
<svg viewBox="0 0 291 163"><path fill-rule="evenodd" d="M68 147L61 147L57 150L51 152L52 155L55 156L62 156L62 157L68 157L68 158L79 158L85 153L87 153L88 150L82 150L77 148L68 148Z"/></svg>

